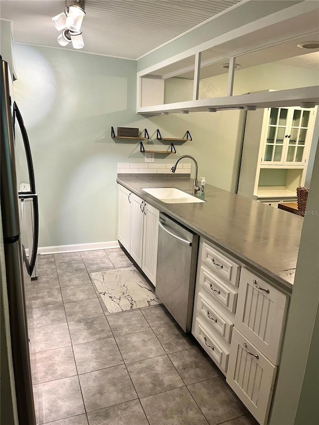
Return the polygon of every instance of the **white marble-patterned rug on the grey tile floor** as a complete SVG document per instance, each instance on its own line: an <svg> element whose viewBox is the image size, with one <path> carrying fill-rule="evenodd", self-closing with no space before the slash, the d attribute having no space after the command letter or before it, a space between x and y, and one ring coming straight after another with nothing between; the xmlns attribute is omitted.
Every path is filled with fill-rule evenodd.
<svg viewBox="0 0 319 425"><path fill-rule="evenodd" d="M160 304L160 300L135 267L90 273L110 313Z"/></svg>

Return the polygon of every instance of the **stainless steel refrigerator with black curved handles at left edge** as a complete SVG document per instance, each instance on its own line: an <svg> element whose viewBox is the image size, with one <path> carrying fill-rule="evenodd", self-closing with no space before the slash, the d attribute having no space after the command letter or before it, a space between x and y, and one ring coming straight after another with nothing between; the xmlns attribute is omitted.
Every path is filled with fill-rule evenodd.
<svg viewBox="0 0 319 425"><path fill-rule="evenodd" d="M25 288L26 280L34 276L38 244L38 200L35 192L33 164L28 136L20 111L10 96L8 65L1 58L0 68L1 144L0 199L4 243L5 274L9 304L10 338L14 370L15 393L19 425L35 424L29 338L27 331ZM11 93L12 95L13 93ZM21 143L27 169L27 189L19 190L18 178ZM19 150L20 149L20 150ZM23 176L25 179L25 176ZM32 247L23 243L23 211L26 203L32 208Z"/></svg>

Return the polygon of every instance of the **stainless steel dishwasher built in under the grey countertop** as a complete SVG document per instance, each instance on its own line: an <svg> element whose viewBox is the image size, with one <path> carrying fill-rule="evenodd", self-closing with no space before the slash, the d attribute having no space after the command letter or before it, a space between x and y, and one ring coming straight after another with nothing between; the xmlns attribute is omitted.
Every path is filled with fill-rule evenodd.
<svg viewBox="0 0 319 425"><path fill-rule="evenodd" d="M199 236L160 213L156 293L185 331L191 330Z"/></svg>

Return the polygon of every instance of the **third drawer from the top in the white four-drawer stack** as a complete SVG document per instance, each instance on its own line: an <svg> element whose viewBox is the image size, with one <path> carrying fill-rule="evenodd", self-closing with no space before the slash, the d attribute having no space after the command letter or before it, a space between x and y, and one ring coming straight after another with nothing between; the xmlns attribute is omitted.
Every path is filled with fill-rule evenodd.
<svg viewBox="0 0 319 425"><path fill-rule="evenodd" d="M205 317L209 322L208 328L213 328L220 336L230 342L232 323L209 299L201 292L198 293L197 314Z"/></svg>

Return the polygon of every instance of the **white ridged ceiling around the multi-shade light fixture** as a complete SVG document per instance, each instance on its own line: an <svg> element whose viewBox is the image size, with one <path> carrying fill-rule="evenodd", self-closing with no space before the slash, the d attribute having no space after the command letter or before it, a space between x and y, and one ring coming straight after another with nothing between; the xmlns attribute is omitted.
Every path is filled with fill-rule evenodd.
<svg viewBox="0 0 319 425"><path fill-rule="evenodd" d="M240 1L86 0L81 51L137 59ZM14 41L60 47L51 18L64 6L64 0L0 0L0 17L13 20Z"/></svg>

